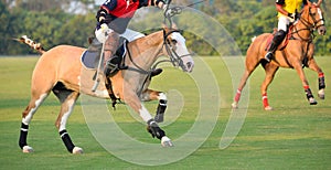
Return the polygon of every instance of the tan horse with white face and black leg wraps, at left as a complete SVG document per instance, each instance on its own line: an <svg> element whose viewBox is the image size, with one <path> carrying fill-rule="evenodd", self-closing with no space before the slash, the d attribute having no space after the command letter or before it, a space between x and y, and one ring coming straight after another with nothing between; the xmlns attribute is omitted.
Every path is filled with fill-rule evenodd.
<svg viewBox="0 0 331 170"><path fill-rule="evenodd" d="M120 70L111 76L111 84L109 84L109 77L105 81L107 83L102 81L96 91L92 91L95 70L87 70L81 63L81 55L86 49L58 45L44 51L40 44L25 36L22 36L20 41L42 54L32 75L31 100L22 114L19 146L23 152L33 151L26 142L29 124L51 91L62 104L55 126L64 145L72 153L83 152L82 148L73 144L66 130L67 119L81 93L106 99L113 95L113 97L121 99L148 124L148 131L152 137L160 139L163 147L172 146L171 140L158 126L157 120L152 118L141 100L159 99L158 113L164 113L167 107L166 94L148 88L151 81L151 68L159 56L168 55L170 61L181 66L184 72L192 71L194 62L188 52L185 39L178 30L163 29L129 42L127 45L128 54L124 59L127 70ZM105 79L104 76L103 79Z"/></svg>

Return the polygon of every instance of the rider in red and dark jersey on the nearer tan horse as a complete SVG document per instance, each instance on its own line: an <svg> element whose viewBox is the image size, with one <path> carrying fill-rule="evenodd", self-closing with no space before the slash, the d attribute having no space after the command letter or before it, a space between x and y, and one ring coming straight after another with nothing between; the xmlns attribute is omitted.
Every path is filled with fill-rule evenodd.
<svg viewBox="0 0 331 170"><path fill-rule="evenodd" d="M104 47L104 73L109 73L117 67L118 61L115 52L119 45L119 34L126 32L129 21L135 12L142 7L154 6L166 10L163 0L106 0L96 14L96 38Z"/></svg>

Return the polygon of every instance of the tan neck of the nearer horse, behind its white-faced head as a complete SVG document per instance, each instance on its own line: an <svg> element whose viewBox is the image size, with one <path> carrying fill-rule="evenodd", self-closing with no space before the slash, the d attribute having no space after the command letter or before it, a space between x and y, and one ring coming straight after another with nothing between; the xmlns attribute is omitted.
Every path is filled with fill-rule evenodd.
<svg viewBox="0 0 331 170"><path fill-rule="evenodd" d="M156 62L162 52L162 31L137 39L129 43L129 51L132 61L139 66L148 70Z"/></svg>

